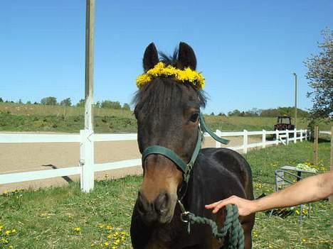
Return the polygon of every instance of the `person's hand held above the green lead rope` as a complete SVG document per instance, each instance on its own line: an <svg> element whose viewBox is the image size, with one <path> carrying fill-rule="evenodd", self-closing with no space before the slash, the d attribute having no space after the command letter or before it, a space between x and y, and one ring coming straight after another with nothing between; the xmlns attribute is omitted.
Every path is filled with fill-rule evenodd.
<svg viewBox="0 0 333 249"><path fill-rule="evenodd" d="M255 211L254 201L236 197L235 195L229 197L228 199L216 201L213 204L205 205L205 208L213 209L213 214L216 214L218 210L220 210L223 206L226 206L227 204L236 205L238 207L238 214L240 216L247 216L248 214L251 214Z"/></svg>

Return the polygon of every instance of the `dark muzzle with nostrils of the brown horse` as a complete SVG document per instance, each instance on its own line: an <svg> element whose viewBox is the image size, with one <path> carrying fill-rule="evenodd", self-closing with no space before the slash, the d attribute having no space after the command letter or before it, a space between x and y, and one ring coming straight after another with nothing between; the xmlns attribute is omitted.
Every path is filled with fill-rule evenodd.
<svg viewBox="0 0 333 249"><path fill-rule="evenodd" d="M138 193L137 197L137 210L146 223L169 223L173 216L173 209L171 211L172 199L169 193L164 192L149 202L142 192Z"/></svg>

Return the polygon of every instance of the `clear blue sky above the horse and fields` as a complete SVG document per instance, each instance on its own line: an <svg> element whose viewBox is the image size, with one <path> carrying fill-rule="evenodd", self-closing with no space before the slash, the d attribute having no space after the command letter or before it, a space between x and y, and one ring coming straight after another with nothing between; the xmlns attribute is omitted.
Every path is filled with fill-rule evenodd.
<svg viewBox="0 0 333 249"><path fill-rule="evenodd" d="M292 72L308 109L303 62L332 13L333 1L96 0L95 101L129 103L144 48L171 53L184 41L206 78L205 113L292 106ZM2 1L0 28L3 99L83 98L84 0Z"/></svg>

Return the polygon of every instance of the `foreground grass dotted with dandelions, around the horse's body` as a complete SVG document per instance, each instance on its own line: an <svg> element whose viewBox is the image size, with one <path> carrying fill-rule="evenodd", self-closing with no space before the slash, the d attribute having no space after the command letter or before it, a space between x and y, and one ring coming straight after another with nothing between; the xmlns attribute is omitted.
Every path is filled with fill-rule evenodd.
<svg viewBox="0 0 333 249"><path fill-rule="evenodd" d="M312 143L251 150L246 158L258 197L273 192L277 167L311 162ZM319 160L317 168L329 170L329 143L319 143ZM105 179L90 194L81 193L77 183L5 193L0 196L0 248L131 248L130 216L141 181ZM302 226L297 214L280 218L260 212L253 248L332 248L332 216L327 201L312 204L312 217L305 217Z"/></svg>

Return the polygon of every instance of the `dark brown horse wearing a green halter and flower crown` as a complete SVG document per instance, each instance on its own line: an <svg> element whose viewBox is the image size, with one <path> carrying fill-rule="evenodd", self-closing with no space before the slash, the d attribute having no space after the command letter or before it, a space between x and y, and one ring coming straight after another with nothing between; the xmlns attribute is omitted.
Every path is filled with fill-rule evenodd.
<svg viewBox="0 0 333 249"><path fill-rule="evenodd" d="M154 68L158 62L157 49L151 43L144 52L144 71ZM180 70L187 67L196 70L196 56L186 43L179 44L173 57L162 54L162 62ZM171 77L155 77L137 91L134 104L140 152L159 145L189 162L200 135L200 109L206 104L203 91L191 82L179 84ZM134 249L224 248L228 238L216 240L208 226L192 225L188 233L186 223L180 219L177 199L182 198L186 210L213 219L219 227L223 226L225 209L212 214L205 209L205 204L233 194L253 199L250 165L233 150L201 149L187 183L179 165L161 153L144 156L142 167L143 182L131 224ZM251 248L254 215L240 217L240 223L245 248Z"/></svg>

